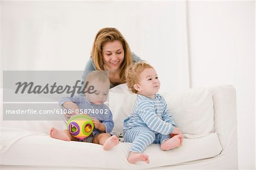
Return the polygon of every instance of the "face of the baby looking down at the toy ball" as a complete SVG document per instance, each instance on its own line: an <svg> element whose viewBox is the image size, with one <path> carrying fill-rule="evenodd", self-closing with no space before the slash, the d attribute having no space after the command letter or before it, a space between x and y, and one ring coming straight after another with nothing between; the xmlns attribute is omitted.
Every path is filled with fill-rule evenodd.
<svg viewBox="0 0 256 170"><path fill-rule="evenodd" d="M94 87L94 90L92 91L96 90L96 92L92 94L88 92L85 93L89 102L94 103L96 105L101 105L106 101L106 99L108 98L109 86L110 86L108 81L102 82L96 79L96 80L90 81L88 86Z"/></svg>

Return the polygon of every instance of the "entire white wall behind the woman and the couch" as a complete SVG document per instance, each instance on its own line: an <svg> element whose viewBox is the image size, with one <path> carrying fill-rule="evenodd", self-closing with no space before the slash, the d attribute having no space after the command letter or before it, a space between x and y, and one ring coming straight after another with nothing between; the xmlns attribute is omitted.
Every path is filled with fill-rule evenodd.
<svg viewBox="0 0 256 170"><path fill-rule="evenodd" d="M239 166L254 169L254 11L254 1L2 1L1 71L83 70L97 31L117 27L162 91L236 87Z"/></svg>

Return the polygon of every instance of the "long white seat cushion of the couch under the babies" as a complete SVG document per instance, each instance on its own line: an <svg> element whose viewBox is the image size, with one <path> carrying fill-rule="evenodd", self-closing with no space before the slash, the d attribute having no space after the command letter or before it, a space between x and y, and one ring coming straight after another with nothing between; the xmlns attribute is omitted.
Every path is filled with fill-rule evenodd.
<svg viewBox="0 0 256 170"><path fill-rule="evenodd" d="M15 128L3 128L1 131L8 131L13 138L10 139L5 135L2 139L2 144L6 147L11 145L7 151L2 152L4 165L141 169L205 159L220 154L222 150L217 134L209 134L184 139L182 147L170 151L162 151L159 144L152 144L144 151L144 154L150 157L150 164L142 162L129 164L127 155L131 143L120 143L112 150L104 151L99 144L66 142L53 139L48 135L36 135L34 132L30 135L28 131L15 130ZM27 134L27 136L12 134ZM14 140L15 142L12 142Z"/></svg>

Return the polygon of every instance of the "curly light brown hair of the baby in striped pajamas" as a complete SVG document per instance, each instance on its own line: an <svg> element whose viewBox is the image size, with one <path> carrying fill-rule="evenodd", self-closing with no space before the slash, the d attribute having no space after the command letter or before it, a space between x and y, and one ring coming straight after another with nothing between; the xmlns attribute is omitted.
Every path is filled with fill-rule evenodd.
<svg viewBox="0 0 256 170"><path fill-rule="evenodd" d="M153 68L150 64L147 64L146 61L140 61L138 63L134 63L129 65L126 69L126 82L128 89L133 93L138 93L136 89L134 89L134 85L138 84L139 76L146 68Z"/></svg>

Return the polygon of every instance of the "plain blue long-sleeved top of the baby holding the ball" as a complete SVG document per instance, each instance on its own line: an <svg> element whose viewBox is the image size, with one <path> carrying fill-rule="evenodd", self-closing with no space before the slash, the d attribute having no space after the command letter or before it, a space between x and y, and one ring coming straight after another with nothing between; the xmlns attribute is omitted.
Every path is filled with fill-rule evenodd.
<svg viewBox="0 0 256 170"><path fill-rule="evenodd" d="M90 109L91 110L90 113L89 113L89 110L87 112L88 115L92 118L94 117L98 119L98 121L100 121L105 126L106 133L112 132L114 128L113 115L109 107L106 106L104 103L102 103L101 105L96 105L94 103L90 103L86 97L82 97L82 96L64 97L59 101L60 107L64 110L67 110L67 109L65 109L65 107L63 107L62 105L67 101L71 101L75 103L81 110ZM98 110L97 112L98 114L96 114L96 110ZM103 110L102 114L100 110ZM92 111L94 113L92 113ZM92 135L96 136L99 133L101 133L100 130L98 130L97 128L94 128Z"/></svg>

